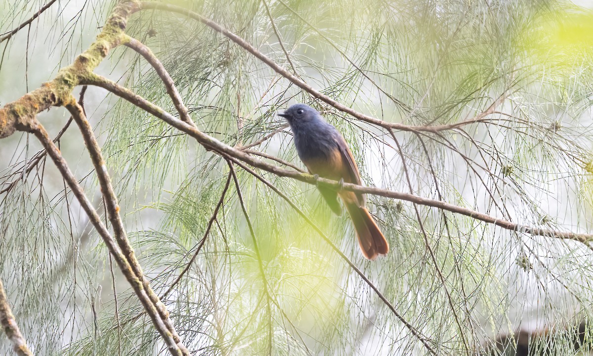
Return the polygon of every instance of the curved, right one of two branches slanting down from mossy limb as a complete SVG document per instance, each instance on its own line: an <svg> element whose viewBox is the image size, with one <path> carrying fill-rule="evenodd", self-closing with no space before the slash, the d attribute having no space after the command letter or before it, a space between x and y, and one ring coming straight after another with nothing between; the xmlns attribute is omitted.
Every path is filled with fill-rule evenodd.
<svg viewBox="0 0 593 356"><path fill-rule="evenodd" d="M111 185L111 179L109 177L109 173L107 173L107 167L105 166L103 155L101 155L101 149L97 139L95 139L95 135L93 134L93 129L91 128L90 123L88 123L82 107L76 103L74 98L72 98L71 102L66 103L65 107L71 113L72 117L74 117L74 120L82 132L82 137L84 138L85 145L87 146L87 150L91 156L91 161L93 161L95 171L97 172L101 193L103 193L104 197L103 201L106 205L106 211L109 215L109 220L111 222L111 227L113 227L113 233L117 244L122 250L127 263L130 265L130 268L132 268L134 275L136 278L138 278L138 281L142 283L142 288L144 289L145 293L150 298L155 309L158 310L162 323L166 326L167 332L172 336L176 346L178 349L180 349L181 354L189 355L189 351L187 351L186 347L181 342L177 331L171 324L167 309L165 308L164 304L162 304L160 298L158 298L158 295L152 291L152 288L144 277L140 263L138 262L138 259L136 259L134 249L132 246L130 246L129 240L127 239L122 217L119 214L120 209L119 205L117 204L117 197L113 190L113 186Z"/></svg>

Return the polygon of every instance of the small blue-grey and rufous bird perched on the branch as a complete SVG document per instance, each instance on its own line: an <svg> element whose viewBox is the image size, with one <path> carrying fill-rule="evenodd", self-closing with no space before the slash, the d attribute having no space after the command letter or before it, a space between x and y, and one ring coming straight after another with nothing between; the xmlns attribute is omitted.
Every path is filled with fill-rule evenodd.
<svg viewBox="0 0 593 356"><path fill-rule="evenodd" d="M323 120L317 110L307 104L294 104L278 115L288 121L298 156L309 173L316 177L337 180L341 184L346 182L361 185L361 174L346 140L334 126ZM387 255L389 244L366 209L364 194L321 186L318 189L331 211L337 215L342 214L337 197L342 198L356 230L362 255L366 259L375 260L378 256Z"/></svg>

